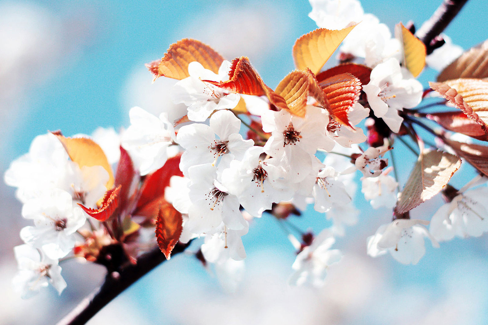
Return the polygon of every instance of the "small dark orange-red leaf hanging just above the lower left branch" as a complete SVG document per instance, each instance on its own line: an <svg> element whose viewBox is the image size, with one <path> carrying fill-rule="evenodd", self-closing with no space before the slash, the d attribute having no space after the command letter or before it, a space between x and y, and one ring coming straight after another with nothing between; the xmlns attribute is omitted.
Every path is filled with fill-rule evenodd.
<svg viewBox="0 0 488 325"><path fill-rule="evenodd" d="M156 220L156 240L166 259L180 239L183 230L182 214L171 204L161 206Z"/></svg>

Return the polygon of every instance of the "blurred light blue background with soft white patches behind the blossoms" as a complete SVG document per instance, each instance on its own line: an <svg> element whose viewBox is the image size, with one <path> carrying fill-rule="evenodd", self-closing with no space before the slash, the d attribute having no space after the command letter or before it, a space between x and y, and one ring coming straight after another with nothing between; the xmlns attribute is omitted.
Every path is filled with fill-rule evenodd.
<svg viewBox="0 0 488 325"><path fill-rule="evenodd" d="M409 20L417 28L440 0L368 0L391 31ZM224 57L247 56L272 88L294 69L291 47L316 28L306 0L234 1L0 1L0 173L28 152L38 134L91 134L97 127L128 126L128 110L167 110L171 80L152 76L144 63L161 58L173 42L197 38ZM484 41L485 0L470 0L446 33L464 49ZM427 85L435 72L426 71ZM413 163L405 153L403 160ZM411 165L410 165L411 166ZM462 168L472 176L468 166ZM400 171L402 172L402 171ZM469 177L458 172L461 186ZM402 180L407 178L402 172ZM413 212L429 219L440 197ZM322 289L288 287L295 259L285 234L270 217L253 223L243 237L246 272L235 293L191 254L174 256L97 314L89 324L487 324L488 242L486 236L454 239L427 252L416 266L366 255L366 237L391 218L372 210L358 190L361 215L333 248L345 254L330 268ZM104 276L101 267L67 262L68 287L58 296L49 287L21 300L11 289L16 272L13 247L28 222L14 189L0 182L0 324L53 324ZM422 212L423 214L420 214ZM415 214L416 213L416 214ZM330 226L312 210L292 220L318 232ZM189 250L195 251L192 246Z"/></svg>

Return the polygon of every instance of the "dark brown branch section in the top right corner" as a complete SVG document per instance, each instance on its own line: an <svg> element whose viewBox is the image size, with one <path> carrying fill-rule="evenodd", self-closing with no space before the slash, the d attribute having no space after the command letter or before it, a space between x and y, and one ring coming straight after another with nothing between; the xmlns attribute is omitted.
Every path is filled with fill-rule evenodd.
<svg viewBox="0 0 488 325"><path fill-rule="evenodd" d="M466 2L468 0L443 0L434 14L420 27L415 35L426 45L427 54L432 53L439 47L436 46L438 41L437 36L456 17Z"/></svg>

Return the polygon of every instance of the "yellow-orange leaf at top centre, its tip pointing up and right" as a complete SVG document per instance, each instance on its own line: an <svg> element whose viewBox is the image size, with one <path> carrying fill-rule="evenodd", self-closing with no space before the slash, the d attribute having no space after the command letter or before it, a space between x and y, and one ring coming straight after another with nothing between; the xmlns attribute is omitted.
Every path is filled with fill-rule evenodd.
<svg viewBox="0 0 488 325"><path fill-rule="evenodd" d="M314 74L318 74L325 62L355 26L352 25L341 30L318 28L298 38L293 45L293 59L297 69L308 67Z"/></svg>

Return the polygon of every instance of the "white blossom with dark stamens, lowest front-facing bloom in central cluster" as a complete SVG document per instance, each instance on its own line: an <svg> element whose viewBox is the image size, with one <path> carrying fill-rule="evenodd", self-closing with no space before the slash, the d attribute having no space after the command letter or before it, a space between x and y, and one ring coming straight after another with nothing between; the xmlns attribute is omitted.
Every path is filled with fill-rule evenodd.
<svg viewBox="0 0 488 325"><path fill-rule="evenodd" d="M192 233L213 233L224 222L228 229L241 230L247 227L237 196L216 179L212 164L192 166L188 169L189 185L188 222L186 231Z"/></svg>

